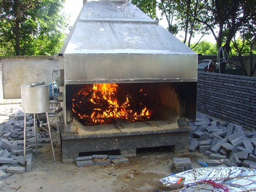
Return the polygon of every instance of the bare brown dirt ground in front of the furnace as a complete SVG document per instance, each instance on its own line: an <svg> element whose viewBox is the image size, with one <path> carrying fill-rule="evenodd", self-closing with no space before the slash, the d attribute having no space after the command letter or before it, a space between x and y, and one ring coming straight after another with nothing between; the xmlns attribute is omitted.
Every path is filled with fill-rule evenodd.
<svg viewBox="0 0 256 192"><path fill-rule="evenodd" d="M17 102L16 102L17 103ZM13 104L12 106L19 104ZM7 105L4 105L8 108ZM0 105L3 109L3 105ZM2 116L3 117L3 116ZM4 118L0 119L3 122ZM137 157L129 157L128 163L77 167L76 163L62 163L60 146L55 146L56 163L53 162L50 144L39 149L42 154L33 156L31 172L8 174L1 188L6 192L154 192L169 191L159 179L172 174L173 157L189 157L192 167L201 167L199 158L208 156L199 152L175 154L169 150L145 150Z"/></svg>

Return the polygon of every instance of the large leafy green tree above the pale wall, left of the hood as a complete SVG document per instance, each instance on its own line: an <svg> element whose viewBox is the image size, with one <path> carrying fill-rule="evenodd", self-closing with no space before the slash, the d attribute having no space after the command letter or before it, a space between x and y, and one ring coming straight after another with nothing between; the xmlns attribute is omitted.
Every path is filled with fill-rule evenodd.
<svg viewBox="0 0 256 192"><path fill-rule="evenodd" d="M53 55L67 22L64 0L0 0L0 55Z"/></svg>

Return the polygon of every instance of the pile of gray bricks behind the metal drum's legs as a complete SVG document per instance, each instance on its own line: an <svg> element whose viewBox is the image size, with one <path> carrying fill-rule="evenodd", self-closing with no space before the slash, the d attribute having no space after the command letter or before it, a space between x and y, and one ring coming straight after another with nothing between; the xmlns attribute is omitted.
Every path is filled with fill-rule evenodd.
<svg viewBox="0 0 256 192"><path fill-rule="evenodd" d="M32 115L26 115L26 162L23 157L24 113L19 112L7 122L0 124L0 177L5 177L5 172L21 174L31 170L35 154L34 119ZM41 148L43 143L50 143L48 137L49 135L44 132L37 132L38 148ZM38 150L38 154L40 153Z"/></svg>

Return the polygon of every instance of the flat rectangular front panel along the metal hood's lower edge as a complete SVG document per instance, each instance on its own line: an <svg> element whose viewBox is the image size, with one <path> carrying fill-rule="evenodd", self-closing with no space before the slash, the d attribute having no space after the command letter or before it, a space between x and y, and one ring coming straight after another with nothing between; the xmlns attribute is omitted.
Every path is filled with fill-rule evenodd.
<svg viewBox="0 0 256 192"><path fill-rule="evenodd" d="M65 54L65 84L197 81L196 54Z"/></svg>

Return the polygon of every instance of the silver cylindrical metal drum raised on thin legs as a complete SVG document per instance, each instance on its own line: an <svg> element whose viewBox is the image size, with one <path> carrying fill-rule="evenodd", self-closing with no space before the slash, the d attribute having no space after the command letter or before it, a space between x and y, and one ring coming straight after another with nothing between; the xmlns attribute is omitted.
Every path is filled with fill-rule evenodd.
<svg viewBox="0 0 256 192"><path fill-rule="evenodd" d="M46 113L49 111L49 85L30 87L21 85L21 104L23 113Z"/></svg>

